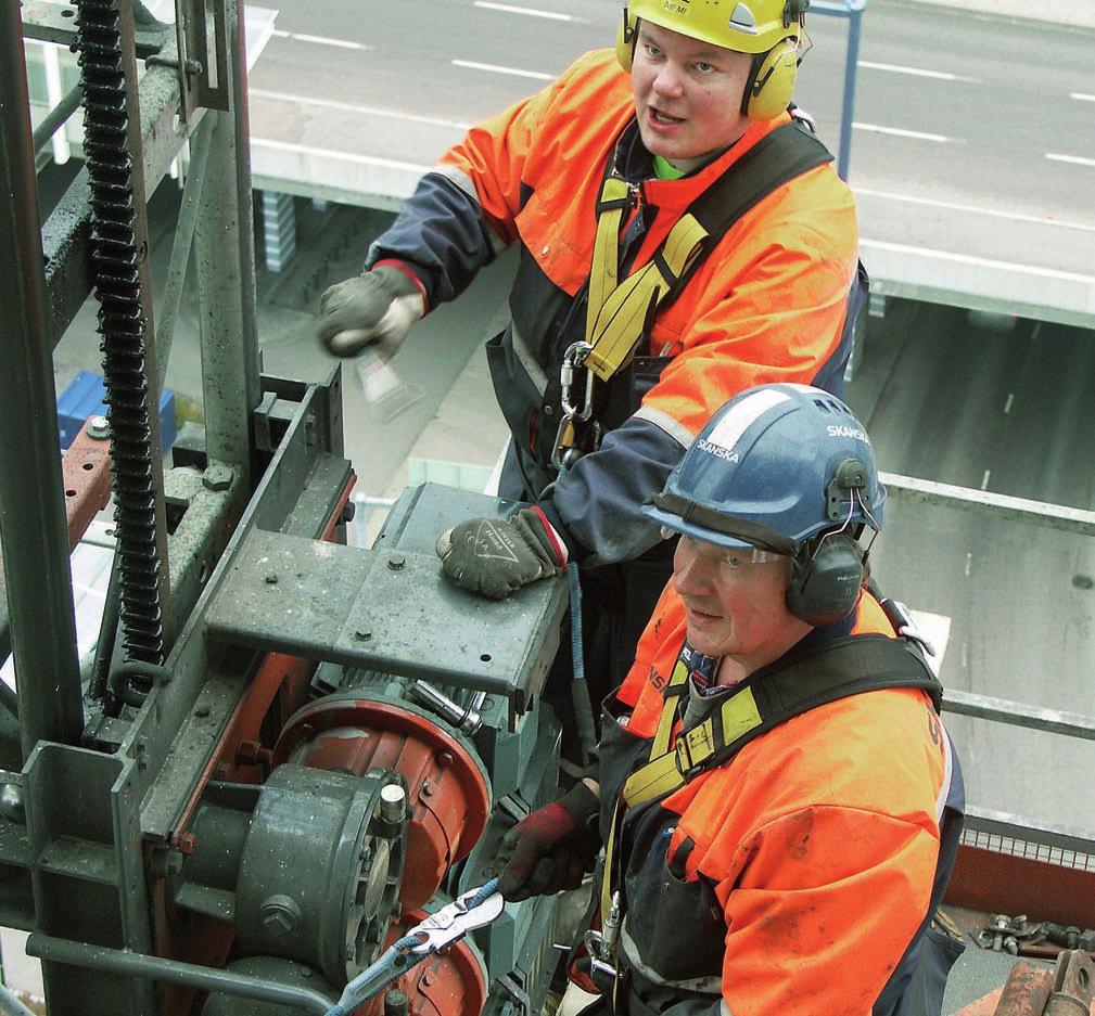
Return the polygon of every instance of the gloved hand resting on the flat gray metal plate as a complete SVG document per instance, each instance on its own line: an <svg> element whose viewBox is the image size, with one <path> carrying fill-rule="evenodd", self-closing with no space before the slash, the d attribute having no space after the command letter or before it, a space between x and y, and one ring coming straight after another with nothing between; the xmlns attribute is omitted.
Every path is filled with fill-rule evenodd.
<svg viewBox="0 0 1095 1016"><path fill-rule="evenodd" d="M538 507L521 509L512 518L470 518L442 533L436 549L457 585L492 599L505 599L566 565L563 541Z"/></svg>

